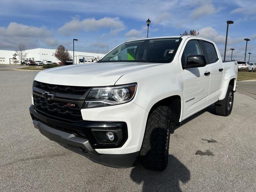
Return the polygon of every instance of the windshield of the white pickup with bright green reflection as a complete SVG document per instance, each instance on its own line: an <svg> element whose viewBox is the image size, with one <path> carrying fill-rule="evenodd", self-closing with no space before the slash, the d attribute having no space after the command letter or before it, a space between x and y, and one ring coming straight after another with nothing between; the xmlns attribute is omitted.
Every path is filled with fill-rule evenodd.
<svg viewBox="0 0 256 192"><path fill-rule="evenodd" d="M158 38L125 42L109 52L100 62L160 62L174 58L181 38Z"/></svg>

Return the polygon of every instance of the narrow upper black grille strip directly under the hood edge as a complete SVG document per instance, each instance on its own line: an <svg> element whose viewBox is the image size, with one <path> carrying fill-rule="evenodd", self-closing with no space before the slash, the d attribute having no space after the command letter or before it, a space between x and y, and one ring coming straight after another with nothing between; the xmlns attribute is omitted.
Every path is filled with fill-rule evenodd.
<svg viewBox="0 0 256 192"><path fill-rule="evenodd" d="M34 81L34 87L44 91L49 91L49 92L52 91L55 93L75 94L75 95L84 95L89 89L88 87L54 85L54 84L42 83L38 81Z"/></svg>

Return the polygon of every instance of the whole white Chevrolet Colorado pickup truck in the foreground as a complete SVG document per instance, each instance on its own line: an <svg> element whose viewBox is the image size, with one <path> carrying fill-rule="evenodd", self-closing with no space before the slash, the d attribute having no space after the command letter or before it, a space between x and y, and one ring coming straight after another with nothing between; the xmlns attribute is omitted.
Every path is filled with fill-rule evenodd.
<svg viewBox="0 0 256 192"><path fill-rule="evenodd" d="M30 114L41 134L94 162L125 168L140 159L162 171L170 128L211 104L228 116L237 73L205 38L128 41L96 63L39 72Z"/></svg>

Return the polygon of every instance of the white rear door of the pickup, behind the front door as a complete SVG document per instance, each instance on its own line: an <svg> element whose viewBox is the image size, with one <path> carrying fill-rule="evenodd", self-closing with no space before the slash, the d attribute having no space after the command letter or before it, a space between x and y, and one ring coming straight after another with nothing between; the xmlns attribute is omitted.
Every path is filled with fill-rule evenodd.
<svg viewBox="0 0 256 192"><path fill-rule="evenodd" d="M215 45L212 42L201 41L204 52L206 52L207 65L210 67L210 87L208 94L208 104L218 100L223 79L223 63L218 57Z"/></svg>

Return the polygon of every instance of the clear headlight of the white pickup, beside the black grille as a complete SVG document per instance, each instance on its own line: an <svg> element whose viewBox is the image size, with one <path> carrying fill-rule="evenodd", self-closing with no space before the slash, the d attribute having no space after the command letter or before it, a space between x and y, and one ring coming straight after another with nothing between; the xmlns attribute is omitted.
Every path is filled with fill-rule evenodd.
<svg viewBox="0 0 256 192"><path fill-rule="evenodd" d="M137 83L92 88L83 108L105 107L129 102L134 98Z"/></svg>

